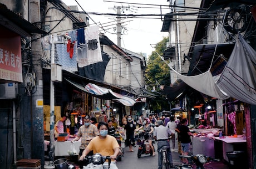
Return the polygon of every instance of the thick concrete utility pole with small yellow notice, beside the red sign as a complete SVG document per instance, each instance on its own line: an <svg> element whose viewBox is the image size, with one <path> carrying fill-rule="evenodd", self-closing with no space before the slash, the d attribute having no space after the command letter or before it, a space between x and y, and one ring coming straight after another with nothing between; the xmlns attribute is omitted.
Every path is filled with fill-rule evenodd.
<svg viewBox="0 0 256 169"><path fill-rule="evenodd" d="M31 23L41 23L40 0L31 0L29 11ZM45 137L43 130L43 76L42 76L42 46L41 35L36 34L31 42L32 68L35 70L36 87L31 94L31 158L40 159L45 164Z"/></svg>

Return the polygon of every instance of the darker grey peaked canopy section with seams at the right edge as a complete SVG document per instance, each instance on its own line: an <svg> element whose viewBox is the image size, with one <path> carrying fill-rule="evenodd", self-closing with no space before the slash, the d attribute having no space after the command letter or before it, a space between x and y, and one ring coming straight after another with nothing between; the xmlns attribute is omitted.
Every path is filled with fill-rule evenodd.
<svg viewBox="0 0 256 169"><path fill-rule="evenodd" d="M235 48L217 85L232 98L256 105L256 52L238 35Z"/></svg>

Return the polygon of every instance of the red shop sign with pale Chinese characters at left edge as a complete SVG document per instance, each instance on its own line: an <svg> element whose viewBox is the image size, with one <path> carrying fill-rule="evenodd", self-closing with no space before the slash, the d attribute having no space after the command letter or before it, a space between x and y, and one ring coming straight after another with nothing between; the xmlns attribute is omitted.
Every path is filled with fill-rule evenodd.
<svg viewBox="0 0 256 169"><path fill-rule="evenodd" d="M21 36L0 26L0 79L22 82Z"/></svg>

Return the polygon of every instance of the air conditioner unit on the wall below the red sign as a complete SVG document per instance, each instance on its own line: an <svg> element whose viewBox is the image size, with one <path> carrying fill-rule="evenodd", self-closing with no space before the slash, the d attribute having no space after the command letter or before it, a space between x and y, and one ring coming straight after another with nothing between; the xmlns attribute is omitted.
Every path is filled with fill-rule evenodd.
<svg viewBox="0 0 256 169"><path fill-rule="evenodd" d="M17 94L16 83L0 84L0 99L14 99Z"/></svg>

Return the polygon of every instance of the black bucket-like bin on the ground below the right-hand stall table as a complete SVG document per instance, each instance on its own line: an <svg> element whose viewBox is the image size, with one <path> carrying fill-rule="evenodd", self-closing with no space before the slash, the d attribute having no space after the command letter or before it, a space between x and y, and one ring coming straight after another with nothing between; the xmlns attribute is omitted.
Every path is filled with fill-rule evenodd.
<svg viewBox="0 0 256 169"><path fill-rule="evenodd" d="M229 160L230 168L235 169L235 168L243 167L242 164L244 163L244 160L245 160L244 151L229 151L229 152L226 152L226 155Z"/></svg>

